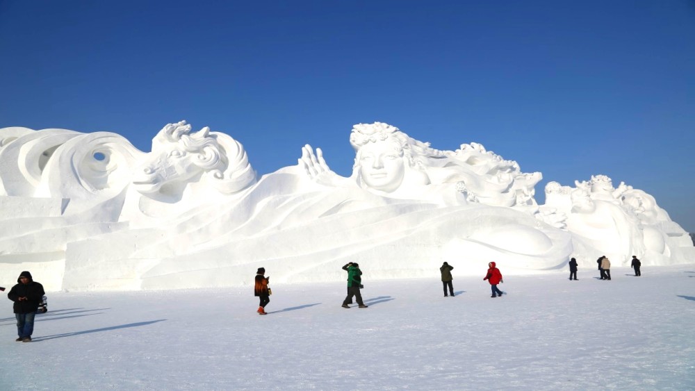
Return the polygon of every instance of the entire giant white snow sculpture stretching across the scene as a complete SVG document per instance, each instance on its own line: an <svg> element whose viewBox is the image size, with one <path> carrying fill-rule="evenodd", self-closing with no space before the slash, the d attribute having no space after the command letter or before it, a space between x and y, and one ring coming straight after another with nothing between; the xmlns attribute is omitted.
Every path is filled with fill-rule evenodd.
<svg viewBox="0 0 695 391"><path fill-rule="evenodd" d="M358 124L350 177L306 145L258 178L242 145L168 124L143 153L114 133L0 129L0 273L31 269L50 290L139 290L432 276L443 260L507 274L637 255L693 262L687 234L653 197L604 176L576 188L462 144L440 151L389 124ZM299 152L299 151L298 151Z"/></svg>

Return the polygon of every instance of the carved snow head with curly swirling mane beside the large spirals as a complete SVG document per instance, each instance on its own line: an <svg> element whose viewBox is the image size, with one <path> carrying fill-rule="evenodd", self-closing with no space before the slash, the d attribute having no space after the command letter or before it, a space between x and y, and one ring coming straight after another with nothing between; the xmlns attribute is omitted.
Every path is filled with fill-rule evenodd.
<svg viewBox="0 0 695 391"><path fill-rule="evenodd" d="M195 133L191 128L181 121L157 133L152 153L140 159L133 172L133 189L120 221L161 224L162 218L221 201L256 183L256 172L238 141L208 127Z"/></svg>

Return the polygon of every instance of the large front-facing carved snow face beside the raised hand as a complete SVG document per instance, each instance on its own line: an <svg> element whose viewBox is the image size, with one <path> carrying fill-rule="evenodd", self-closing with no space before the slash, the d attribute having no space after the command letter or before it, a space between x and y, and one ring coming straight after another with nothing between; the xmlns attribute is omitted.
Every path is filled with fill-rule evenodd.
<svg viewBox="0 0 695 391"><path fill-rule="evenodd" d="M393 192L405 175L403 150L392 140L368 142L359 149L359 174L368 187Z"/></svg>

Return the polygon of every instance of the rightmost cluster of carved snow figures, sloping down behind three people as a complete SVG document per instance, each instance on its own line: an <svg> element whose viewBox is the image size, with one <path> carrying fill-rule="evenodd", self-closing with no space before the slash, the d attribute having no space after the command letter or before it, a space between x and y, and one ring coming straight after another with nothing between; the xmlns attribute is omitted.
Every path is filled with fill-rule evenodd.
<svg viewBox="0 0 695 391"><path fill-rule="evenodd" d="M624 182L614 188L608 176L575 181L575 188L550 182L544 208L566 216L575 258L584 266L594 266L602 255L623 266L630 265L633 255L650 265L695 259L688 234L657 206L654 197Z"/></svg>

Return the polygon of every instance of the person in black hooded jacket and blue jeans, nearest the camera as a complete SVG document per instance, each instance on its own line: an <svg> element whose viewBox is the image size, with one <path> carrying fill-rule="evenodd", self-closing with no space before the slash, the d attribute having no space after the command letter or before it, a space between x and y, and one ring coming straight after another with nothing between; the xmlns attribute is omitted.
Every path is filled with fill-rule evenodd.
<svg viewBox="0 0 695 391"><path fill-rule="evenodd" d="M7 294L7 298L14 301L15 318L17 318L17 334L15 341L31 342L31 334L34 331L34 316L39 304L46 294L43 285L33 281L31 273L22 272L17 278L17 285L13 286Z"/></svg>

